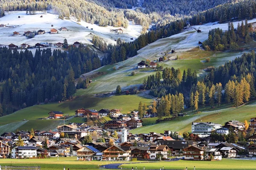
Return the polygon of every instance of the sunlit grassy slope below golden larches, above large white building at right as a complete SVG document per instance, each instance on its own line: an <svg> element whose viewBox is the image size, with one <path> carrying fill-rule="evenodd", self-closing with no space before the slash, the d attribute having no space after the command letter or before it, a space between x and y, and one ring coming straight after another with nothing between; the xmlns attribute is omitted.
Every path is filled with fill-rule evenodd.
<svg viewBox="0 0 256 170"><path fill-rule="evenodd" d="M214 122L224 124L230 120L238 120L244 122L245 119L250 120L251 117L256 116L256 101L252 101L239 108L229 107L230 105L224 105L219 110L212 110L205 108L207 111L203 111L199 114L191 114L189 116L177 117L175 120L160 122L155 124L156 118L143 119L143 127L131 130L131 133L149 133L157 132L163 133L163 130L178 131L179 133L191 132L191 123L195 122ZM152 125L153 124L153 125Z"/></svg>

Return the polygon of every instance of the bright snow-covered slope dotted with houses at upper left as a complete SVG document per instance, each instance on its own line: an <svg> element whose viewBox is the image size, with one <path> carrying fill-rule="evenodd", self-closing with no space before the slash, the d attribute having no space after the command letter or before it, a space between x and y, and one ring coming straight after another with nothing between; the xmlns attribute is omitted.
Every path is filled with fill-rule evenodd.
<svg viewBox="0 0 256 170"><path fill-rule="evenodd" d="M40 16L43 17L40 17ZM18 18L20 16L20 18ZM133 26L131 23L128 28L122 28L123 34L117 34L111 29L118 29L120 27L100 27L95 24L86 23L84 21L77 23L75 18L70 20L58 19L58 15L50 13L36 12L35 15L27 15L26 11L13 11L6 13L6 16L0 18L0 24L5 24L6 26L12 26L0 28L0 45L9 45L11 43L15 45L21 45L22 43L27 43L29 45L35 45L38 42L63 42L64 38L67 39L69 44L73 42L83 42L91 44L90 40L92 35L98 35L102 37L107 43L115 43L114 40L121 38L126 42L132 41L131 38L137 38L140 35L141 26ZM51 27L53 25L53 27ZM88 26L88 28L86 28ZM61 27L66 27L70 31L59 31ZM32 39L27 39L23 36L24 31L38 31L45 30L49 32L50 29L55 28L58 30L59 34L42 34L36 35ZM93 28L93 30L91 30ZM20 35L13 36L13 32L17 31ZM90 33L92 35L90 35Z"/></svg>

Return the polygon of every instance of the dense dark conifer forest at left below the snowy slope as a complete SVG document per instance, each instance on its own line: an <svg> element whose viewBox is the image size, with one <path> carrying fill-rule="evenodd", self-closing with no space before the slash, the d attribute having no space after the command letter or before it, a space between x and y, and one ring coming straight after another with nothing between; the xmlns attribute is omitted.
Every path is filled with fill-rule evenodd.
<svg viewBox="0 0 256 170"><path fill-rule="evenodd" d="M67 51L0 48L0 116L41 102L69 99L76 92L75 79L101 67L89 47ZM86 88L88 80L77 88Z"/></svg>

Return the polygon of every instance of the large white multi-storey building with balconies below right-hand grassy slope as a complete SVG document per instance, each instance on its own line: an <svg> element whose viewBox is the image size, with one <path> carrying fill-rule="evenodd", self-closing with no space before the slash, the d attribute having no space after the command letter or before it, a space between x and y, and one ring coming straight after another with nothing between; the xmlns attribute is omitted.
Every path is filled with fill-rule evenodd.
<svg viewBox="0 0 256 170"><path fill-rule="evenodd" d="M221 124L212 122L193 122L191 127L193 134L210 135L213 130L221 128Z"/></svg>

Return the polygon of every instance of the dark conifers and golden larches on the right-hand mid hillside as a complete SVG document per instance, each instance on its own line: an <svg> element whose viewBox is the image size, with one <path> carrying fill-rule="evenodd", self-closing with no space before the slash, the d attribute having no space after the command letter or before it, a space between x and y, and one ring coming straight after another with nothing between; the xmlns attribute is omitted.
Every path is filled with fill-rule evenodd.
<svg viewBox="0 0 256 170"><path fill-rule="evenodd" d="M144 89L150 89L150 94L160 98L157 106L152 105L151 113L158 113L159 117L177 116L183 111L183 106L198 111L199 106L220 106L227 102L238 107L256 97L256 65L255 55L243 54L232 62L226 62L218 68L212 69L203 80L197 80L196 72L183 71L179 68L165 68L162 74L144 79Z"/></svg>

